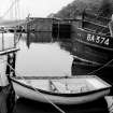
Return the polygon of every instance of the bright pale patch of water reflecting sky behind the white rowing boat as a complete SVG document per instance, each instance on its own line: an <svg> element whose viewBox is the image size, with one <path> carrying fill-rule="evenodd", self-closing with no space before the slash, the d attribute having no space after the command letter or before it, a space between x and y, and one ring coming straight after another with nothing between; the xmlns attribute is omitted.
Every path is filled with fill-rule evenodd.
<svg viewBox="0 0 113 113"><path fill-rule="evenodd" d="M17 72L23 75L71 75L73 58L69 52L61 50L59 43L52 38L30 36L29 40L25 38L27 40L19 42Z"/></svg>

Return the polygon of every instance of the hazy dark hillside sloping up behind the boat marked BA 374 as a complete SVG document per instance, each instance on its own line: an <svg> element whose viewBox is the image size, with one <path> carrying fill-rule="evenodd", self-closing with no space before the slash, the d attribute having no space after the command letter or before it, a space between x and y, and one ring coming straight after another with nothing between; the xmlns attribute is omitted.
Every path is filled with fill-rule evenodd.
<svg viewBox="0 0 113 113"><path fill-rule="evenodd" d="M75 16L82 14L83 11L111 17L113 13L113 0L74 0L53 16L59 18L75 18Z"/></svg>

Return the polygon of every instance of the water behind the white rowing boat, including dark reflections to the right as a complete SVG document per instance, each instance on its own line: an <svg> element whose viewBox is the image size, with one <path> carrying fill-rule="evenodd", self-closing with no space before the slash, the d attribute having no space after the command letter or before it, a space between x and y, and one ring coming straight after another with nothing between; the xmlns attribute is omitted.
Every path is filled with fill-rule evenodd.
<svg viewBox="0 0 113 113"><path fill-rule="evenodd" d="M102 66L76 58L72 51L72 40L53 38L52 32L24 34L19 46L20 52L17 55L16 69L23 74L96 74L108 77L108 72L111 71L112 73L111 67L98 70ZM24 60L20 61L22 59Z"/></svg>

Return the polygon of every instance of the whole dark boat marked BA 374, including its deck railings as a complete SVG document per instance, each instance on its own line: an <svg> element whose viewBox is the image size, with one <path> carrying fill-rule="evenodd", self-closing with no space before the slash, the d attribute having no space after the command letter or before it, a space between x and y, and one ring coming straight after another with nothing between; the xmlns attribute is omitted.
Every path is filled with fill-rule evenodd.
<svg viewBox="0 0 113 113"><path fill-rule="evenodd" d="M113 38L108 26L110 20L96 14L84 13L81 26L72 33L72 54L101 65L112 60Z"/></svg>

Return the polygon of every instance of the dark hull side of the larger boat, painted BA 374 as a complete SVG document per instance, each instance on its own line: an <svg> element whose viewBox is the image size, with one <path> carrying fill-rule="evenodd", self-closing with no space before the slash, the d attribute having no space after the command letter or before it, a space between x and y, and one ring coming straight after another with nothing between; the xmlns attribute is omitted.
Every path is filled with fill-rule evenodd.
<svg viewBox="0 0 113 113"><path fill-rule="evenodd" d="M72 54L83 59L105 63L113 59L113 38L77 28Z"/></svg>

